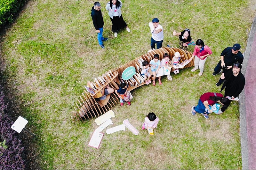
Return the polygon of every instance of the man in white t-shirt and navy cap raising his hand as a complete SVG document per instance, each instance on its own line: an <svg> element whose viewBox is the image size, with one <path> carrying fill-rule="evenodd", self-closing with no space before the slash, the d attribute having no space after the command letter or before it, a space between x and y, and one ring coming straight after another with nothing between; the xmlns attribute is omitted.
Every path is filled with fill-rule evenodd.
<svg viewBox="0 0 256 170"><path fill-rule="evenodd" d="M149 22L148 25L152 33L151 49L155 49L155 44L157 49L161 48L164 41L164 30L163 27L159 24L158 18L152 19L152 22Z"/></svg>

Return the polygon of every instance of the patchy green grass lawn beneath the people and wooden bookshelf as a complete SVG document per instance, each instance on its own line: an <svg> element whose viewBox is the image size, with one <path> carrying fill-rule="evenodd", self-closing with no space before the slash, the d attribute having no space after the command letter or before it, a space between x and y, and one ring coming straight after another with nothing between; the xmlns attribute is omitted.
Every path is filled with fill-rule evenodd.
<svg viewBox="0 0 256 170"><path fill-rule="evenodd" d="M204 92L220 92L212 76L220 53L235 43L244 53L255 15L250 1L123 0L125 29L117 38L100 1L104 18L105 49L98 45L91 19L94 1L31 0L16 22L2 35L5 76L19 99L20 115L38 136L38 161L43 169L242 169L239 105L233 101L222 115L191 115ZM202 39L213 54L204 74L180 70L173 81L144 85L132 91L132 105L116 105L114 127L129 119L139 130L107 134L99 149L88 146L95 119L73 122L71 112L87 81L117 68L150 49L148 22L159 18L164 28L163 47L178 47L173 29L191 30L193 41ZM193 47L188 51L193 52ZM248 56L245 56L248 57ZM141 130L145 116L159 117L154 136ZM108 127L108 128L109 128Z"/></svg>

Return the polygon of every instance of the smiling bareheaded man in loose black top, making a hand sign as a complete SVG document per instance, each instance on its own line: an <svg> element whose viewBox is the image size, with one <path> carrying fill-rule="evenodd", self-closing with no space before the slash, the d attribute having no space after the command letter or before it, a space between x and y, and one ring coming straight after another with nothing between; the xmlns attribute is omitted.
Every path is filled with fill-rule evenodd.
<svg viewBox="0 0 256 170"><path fill-rule="evenodd" d="M244 89L245 85L245 78L244 75L241 73L242 65L240 63L233 63L232 64L232 72L228 71L225 76L224 73L221 73L220 78L226 79L226 81L223 83L220 92L225 88L225 94L224 96L231 97L231 99L235 99L239 96L239 94ZM219 112L217 114L223 113L227 107L221 107Z"/></svg>

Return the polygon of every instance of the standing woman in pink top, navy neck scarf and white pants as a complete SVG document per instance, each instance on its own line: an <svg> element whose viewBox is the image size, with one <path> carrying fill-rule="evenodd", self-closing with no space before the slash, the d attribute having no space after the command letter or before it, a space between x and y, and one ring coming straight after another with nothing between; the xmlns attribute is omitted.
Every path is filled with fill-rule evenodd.
<svg viewBox="0 0 256 170"><path fill-rule="evenodd" d="M199 76L202 76L203 72L204 72L204 63L207 59L208 55L212 54L212 50L207 46L204 45L204 41L201 39L198 39L196 41L196 47L194 49L193 55L191 56L191 58L188 60L189 62L195 57L195 68L192 69L191 71L194 72L198 69L199 67Z"/></svg>

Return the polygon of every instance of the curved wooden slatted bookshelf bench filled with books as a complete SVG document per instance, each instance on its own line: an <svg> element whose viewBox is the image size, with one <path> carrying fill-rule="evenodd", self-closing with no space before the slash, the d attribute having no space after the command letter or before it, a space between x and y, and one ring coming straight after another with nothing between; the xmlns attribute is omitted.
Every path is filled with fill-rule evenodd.
<svg viewBox="0 0 256 170"><path fill-rule="evenodd" d="M142 62L147 61L148 63L150 63L155 54L159 55L159 59L161 61L165 53L169 55L169 58L172 61L175 52L179 52L180 55L184 55L184 57L180 57L180 63L184 62L186 59L190 59L192 56L191 52L180 48L159 48L149 51L114 70L109 70L102 76L94 78L94 82L88 81L87 86L85 86L86 90L84 90L82 95L79 96L79 99L77 99L76 106L74 106L74 111L72 111L71 117L74 121L86 121L106 113L119 102L119 98L114 92L108 94L105 100L98 100L97 96L100 95L100 91L104 86L108 85L109 87L117 90L119 88L119 84L121 82L125 82L129 85L129 90L132 91L133 89L141 85L145 85L146 82L144 78L140 76ZM194 65L195 64L193 59L190 63L188 63L181 69L192 67ZM123 71L130 66L133 66L135 68L136 74L134 74L132 78L128 80L123 80L121 75ZM174 69L171 68L171 72L173 71Z"/></svg>

